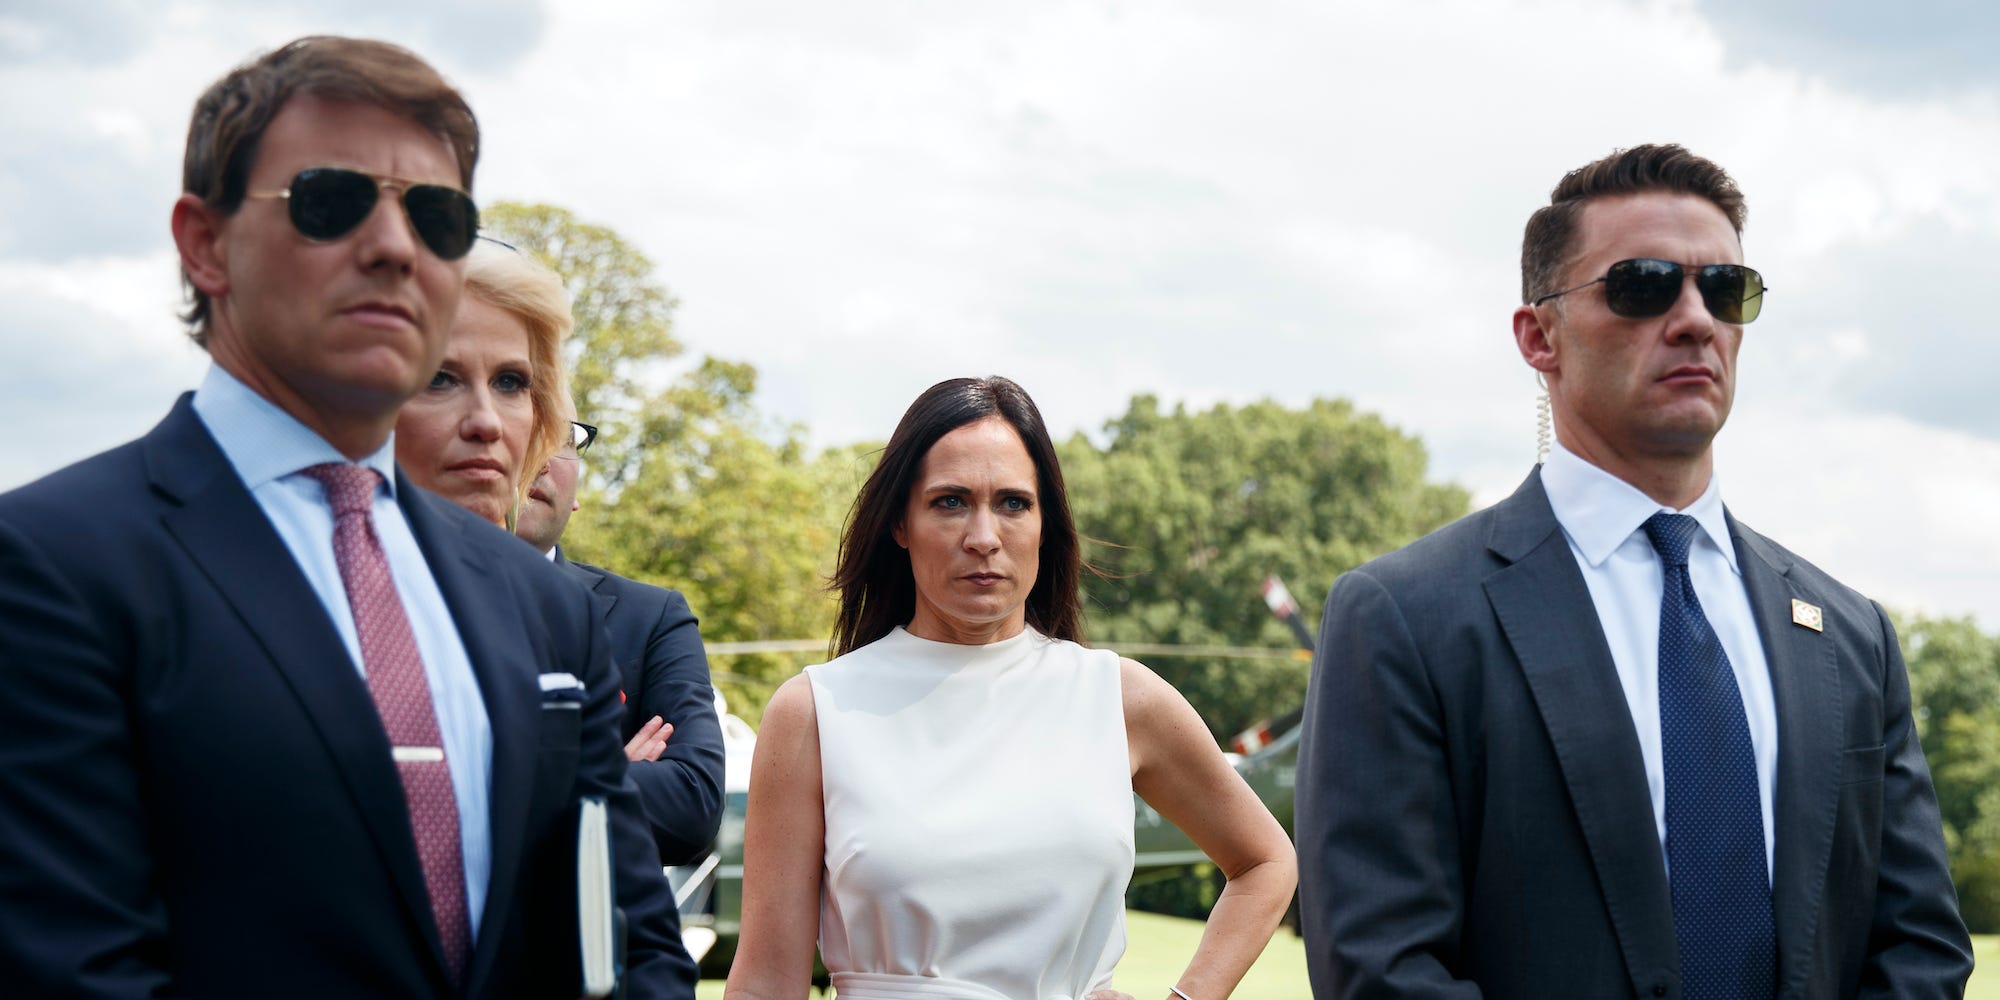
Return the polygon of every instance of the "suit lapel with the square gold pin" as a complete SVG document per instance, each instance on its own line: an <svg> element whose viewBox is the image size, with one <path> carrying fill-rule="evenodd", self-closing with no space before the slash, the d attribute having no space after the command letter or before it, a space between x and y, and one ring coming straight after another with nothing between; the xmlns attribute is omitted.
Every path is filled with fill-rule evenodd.
<svg viewBox="0 0 2000 1000"><path fill-rule="evenodd" d="M1840 668L1834 644L1792 624L1792 598L1824 606L1790 576L1790 556L1730 518L1736 564L1778 702L1778 788L1772 790L1772 910L1780 996L1806 988L1840 804Z"/></svg>

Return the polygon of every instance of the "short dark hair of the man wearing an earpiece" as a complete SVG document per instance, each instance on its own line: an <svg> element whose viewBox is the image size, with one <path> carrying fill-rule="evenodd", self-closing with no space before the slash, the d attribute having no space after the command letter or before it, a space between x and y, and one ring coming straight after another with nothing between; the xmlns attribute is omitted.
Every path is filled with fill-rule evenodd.
<svg viewBox="0 0 2000 1000"><path fill-rule="evenodd" d="M1520 240L1520 300L1534 302L1560 290L1562 274L1576 254L1576 228L1590 200L1642 192L1706 198L1728 216L1738 240L1744 234L1744 192L1712 160L1670 142L1614 150L1564 174L1548 194L1548 204L1528 216L1528 232Z"/></svg>

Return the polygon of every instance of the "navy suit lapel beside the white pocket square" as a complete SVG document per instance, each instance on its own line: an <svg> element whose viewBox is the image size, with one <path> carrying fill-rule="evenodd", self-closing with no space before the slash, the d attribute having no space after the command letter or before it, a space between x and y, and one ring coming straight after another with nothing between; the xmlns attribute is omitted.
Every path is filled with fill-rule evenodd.
<svg viewBox="0 0 2000 1000"><path fill-rule="evenodd" d="M486 880L486 908L480 936L466 968L466 992L478 994L480 984L498 958L506 914L514 906L514 888L526 850L528 798L534 788L534 760L540 746L540 688L534 664L536 642L520 614L520 596L502 572L492 552L468 544L464 532L478 530L456 522L438 510L446 500L418 490L402 470L396 470L396 496L402 502L410 534L424 550L430 576L444 594L444 604L458 626L458 638L472 660L472 674L486 702L486 722L492 728L494 758L486 790L486 822L492 836L492 868Z"/></svg>

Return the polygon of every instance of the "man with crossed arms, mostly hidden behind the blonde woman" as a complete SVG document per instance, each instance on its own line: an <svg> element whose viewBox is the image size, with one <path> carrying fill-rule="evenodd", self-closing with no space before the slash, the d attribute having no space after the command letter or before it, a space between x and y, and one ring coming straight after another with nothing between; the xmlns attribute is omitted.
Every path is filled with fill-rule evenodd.
<svg viewBox="0 0 2000 1000"><path fill-rule="evenodd" d="M582 456L598 428L572 420L570 444L528 486L514 534L590 588L604 606L612 666L624 698L620 734L632 782L652 822L660 864L692 864L722 824L722 722L708 680L708 652L688 598L562 554L578 510Z"/></svg>

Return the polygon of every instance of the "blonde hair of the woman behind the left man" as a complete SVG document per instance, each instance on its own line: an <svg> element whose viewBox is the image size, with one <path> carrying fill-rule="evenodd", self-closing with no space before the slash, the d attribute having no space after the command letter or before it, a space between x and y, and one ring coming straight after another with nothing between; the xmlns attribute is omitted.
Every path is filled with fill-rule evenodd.
<svg viewBox="0 0 2000 1000"><path fill-rule="evenodd" d="M494 240L472 244L472 254L466 256L466 294L506 310L528 328L528 400L534 402L534 428L528 432L520 482L514 484L518 504L550 456L570 440L570 376L562 366L562 340L576 326L570 316L570 294L546 264Z"/></svg>

